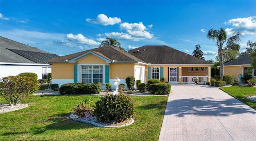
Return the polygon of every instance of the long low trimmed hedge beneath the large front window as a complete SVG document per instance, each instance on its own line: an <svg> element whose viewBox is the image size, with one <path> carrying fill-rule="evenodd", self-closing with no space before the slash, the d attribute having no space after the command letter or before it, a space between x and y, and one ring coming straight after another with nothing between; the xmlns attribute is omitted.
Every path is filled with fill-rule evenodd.
<svg viewBox="0 0 256 141"><path fill-rule="evenodd" d="M60 94L99 94L100 82L96 83L66 83L60 86Z"/></svg>

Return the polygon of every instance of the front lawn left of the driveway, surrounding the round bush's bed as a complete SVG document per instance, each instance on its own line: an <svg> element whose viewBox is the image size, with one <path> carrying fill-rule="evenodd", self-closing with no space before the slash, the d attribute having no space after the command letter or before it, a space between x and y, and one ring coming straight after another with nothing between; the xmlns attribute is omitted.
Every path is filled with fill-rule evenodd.
<svg viewBox="0 0 256 141"><path fill-rule="evenodd" d="M127 127L99 128L68 116L86 95L29 96L29 107L0 114L0 140L157 141L168 97L131 96L135 122ZM97 100L98 96L94 95ZM0 103L7 103L0 97Z"/></svg>

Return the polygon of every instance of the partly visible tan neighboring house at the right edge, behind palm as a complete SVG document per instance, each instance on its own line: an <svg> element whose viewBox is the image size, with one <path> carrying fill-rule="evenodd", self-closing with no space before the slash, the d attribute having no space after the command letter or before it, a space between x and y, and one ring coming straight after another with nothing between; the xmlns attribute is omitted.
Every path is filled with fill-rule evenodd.
<svg viewBox="0 0 256 141"><path fill-rule="evenodd" d="M250 57L250 54L225 62L223 75L233 75L235 81L240 81L238 75L242 77L244 75L252 75L253 77L256 77L256 70L253 70L252 74L248 74L246 72L246 70L251 66L251 62L252 58Z"/></svg>

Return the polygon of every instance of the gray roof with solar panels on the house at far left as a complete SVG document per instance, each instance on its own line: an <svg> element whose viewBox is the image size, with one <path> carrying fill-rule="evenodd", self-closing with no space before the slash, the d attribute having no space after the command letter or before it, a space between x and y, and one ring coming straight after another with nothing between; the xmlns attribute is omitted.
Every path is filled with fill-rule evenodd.
<svg viewBox="0 0 256 141"><path fill-rule="evenodd" d="M55 57L59 56L0 36L0 62L45 64Z"/></svg>

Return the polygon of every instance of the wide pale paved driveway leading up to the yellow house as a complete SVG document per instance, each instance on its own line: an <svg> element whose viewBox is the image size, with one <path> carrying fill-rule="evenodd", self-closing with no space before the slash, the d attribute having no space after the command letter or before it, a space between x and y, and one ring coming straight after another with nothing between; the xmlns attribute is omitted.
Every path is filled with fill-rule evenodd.
<svg viewBox="0 0 256 141"><path fill-rule="evenodd" d="M206 85L172 85L158 141L256 141L256 110Z"/></svg>

